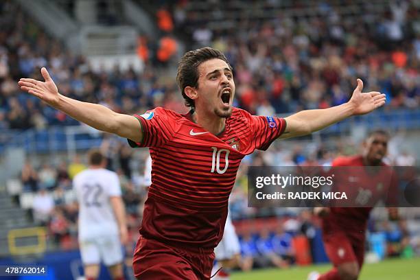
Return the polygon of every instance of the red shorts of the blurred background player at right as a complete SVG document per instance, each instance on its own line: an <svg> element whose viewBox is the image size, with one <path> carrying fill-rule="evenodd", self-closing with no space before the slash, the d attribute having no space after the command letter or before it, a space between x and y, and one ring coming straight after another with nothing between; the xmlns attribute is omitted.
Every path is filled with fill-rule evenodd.
<svg viewBox="0 0 420 280"><path fill-rule="evenodd" d="M364 233L334 231L323 235L325 252L334 266L356 261L362 268L364 260Z"/></svg>

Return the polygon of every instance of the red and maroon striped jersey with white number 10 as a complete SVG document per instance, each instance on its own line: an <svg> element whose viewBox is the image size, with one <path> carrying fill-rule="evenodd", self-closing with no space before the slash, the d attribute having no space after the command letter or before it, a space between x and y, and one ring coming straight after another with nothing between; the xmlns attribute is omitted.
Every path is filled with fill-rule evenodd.
<svg viewBox="0 0 420 280"><path fill-rule="evenodd" d="M233 108L220 135L158 107L139 116L142 143L150 147L152 185L140 233L174 246L215 247L222 239L228 198L241 160L266 150L285 129L285 120L253 116Z"/></svg>

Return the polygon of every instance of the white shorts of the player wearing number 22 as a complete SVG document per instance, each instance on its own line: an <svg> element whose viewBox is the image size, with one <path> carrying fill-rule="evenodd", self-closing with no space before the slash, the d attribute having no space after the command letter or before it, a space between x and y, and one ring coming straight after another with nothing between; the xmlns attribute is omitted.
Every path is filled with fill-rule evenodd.
<svg viewBox="0 0 420 280"><path fill-rule="evenodd" d="M121 264L123 252L118 235L105 235L85 240L79 240L80 255L84 265L100 264L105 266Z"/></svg>

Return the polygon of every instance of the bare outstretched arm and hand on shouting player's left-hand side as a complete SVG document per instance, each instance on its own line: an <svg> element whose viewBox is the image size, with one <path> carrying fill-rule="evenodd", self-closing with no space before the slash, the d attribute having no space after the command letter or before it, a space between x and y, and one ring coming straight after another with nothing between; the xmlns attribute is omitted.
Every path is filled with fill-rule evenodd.
<svg viewBox="0 0 420 280"><path fill-rule="evenodd" d="M27 91L27 93L38 97L49 106L61 110L88 126L133 141L141 141L143 135L141 129L139 129L139 121L135 117L115 113L100 104L80 102L61 95L45 67L41 69L41 74L45 82L22 78L18 84L23 91Z"/></svg>

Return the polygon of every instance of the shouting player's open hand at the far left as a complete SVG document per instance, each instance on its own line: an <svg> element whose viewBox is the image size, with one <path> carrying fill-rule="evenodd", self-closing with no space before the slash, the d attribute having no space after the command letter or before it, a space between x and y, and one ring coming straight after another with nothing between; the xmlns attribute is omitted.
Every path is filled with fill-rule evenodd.
<svg viewBox="0 0 420 280"><path fill-rule="evenodd" d="M21 86L21 90L27 91L27 93L38 97L50 106L56 107L58 105L58 100L60 99L57 86L49 76L45 67L41 68L41 74L43 75L45 82L30 78L21 78L18 84Z"/></svg>

